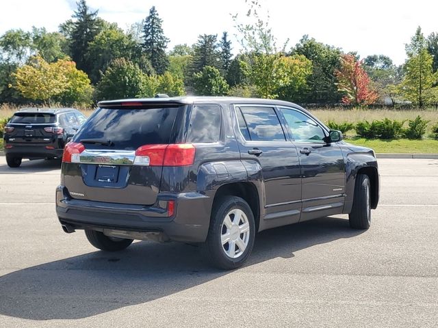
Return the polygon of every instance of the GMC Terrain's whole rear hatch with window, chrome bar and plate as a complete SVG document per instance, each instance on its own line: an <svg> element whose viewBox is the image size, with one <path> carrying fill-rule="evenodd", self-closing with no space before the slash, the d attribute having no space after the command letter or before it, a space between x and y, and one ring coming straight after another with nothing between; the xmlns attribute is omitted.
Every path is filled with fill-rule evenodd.
<svg viewBox="0 0 438 328"><path fill-rule="evenodd" d="M71 197L155 204L162 156L179 138L176 122L186 107L128 104L97 109L64 150L63 184Z"/></svg>

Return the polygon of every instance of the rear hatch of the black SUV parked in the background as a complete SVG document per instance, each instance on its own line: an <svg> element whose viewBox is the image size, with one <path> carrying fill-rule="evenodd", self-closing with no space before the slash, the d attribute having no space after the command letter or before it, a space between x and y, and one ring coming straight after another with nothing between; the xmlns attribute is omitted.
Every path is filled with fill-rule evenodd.
<svg viewBox="0 0 438 328"><path fill-rule="evenodd" d="M53 143L53 127L57 126L54 113L18 112L12 116L5 134L8 143L23 146Z"/></svg>

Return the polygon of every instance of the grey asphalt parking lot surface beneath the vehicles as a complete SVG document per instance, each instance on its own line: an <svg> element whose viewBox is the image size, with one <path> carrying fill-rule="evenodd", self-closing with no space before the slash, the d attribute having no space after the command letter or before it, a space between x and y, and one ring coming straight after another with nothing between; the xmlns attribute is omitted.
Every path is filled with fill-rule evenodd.
<svg viewBox="0 0 438 328"><path fill-rule="evenodd" d="M438 327L438 160L378 163L370 230L268 230L230 272L192 245L96 251L57 222L57 161L0 156L0 327Z"/></svg>

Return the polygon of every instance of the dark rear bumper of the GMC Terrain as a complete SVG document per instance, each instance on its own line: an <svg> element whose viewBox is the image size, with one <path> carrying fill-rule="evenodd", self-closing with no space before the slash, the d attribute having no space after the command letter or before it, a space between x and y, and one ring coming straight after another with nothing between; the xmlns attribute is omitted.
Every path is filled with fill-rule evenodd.
<svg viewBox="0 0 438 328"><path fill-rule="evenodd" d="M159 194L159 200L175 200L175 211L167 217L159 202L153 206L77 200L68 190L56 189L56 213L69 229L158 232L164 240L203 242L207 238L211 198L200 193Z"/></svg>

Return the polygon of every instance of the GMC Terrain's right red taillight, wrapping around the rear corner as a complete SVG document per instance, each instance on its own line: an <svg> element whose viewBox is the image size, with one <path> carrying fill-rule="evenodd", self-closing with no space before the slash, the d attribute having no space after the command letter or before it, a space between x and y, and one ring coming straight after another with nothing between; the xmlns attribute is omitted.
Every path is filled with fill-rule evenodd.
<svg viewBox="0 0 438 328"><path fill-rule="evenodd" d="M144 145L136 150L134 165L186 166L194 163L195 148L192 143L170 145Z"/></svg>

